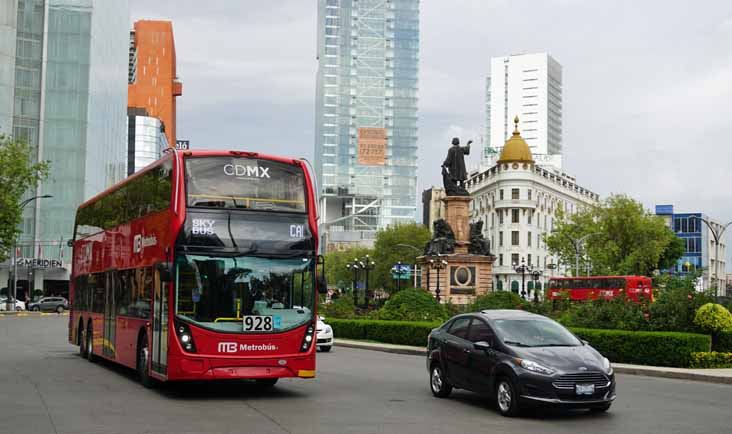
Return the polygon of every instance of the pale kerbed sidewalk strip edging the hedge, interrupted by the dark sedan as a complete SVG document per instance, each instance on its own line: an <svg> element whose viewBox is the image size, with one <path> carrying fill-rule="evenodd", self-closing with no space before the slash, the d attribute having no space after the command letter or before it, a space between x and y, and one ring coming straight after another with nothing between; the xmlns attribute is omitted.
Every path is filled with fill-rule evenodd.
<svg viewBox="0 0 732 434"><path fill-rule="evenodd" d="M411 347L408 345L362 342L350 339L336 339L334 340L334 344L338 347L383 351L385 353L408 354L414 356L425 356L427 354L427 350L424 347ZM732 384L732 369L665 368L661 366L627 365L624 363L613 363L613 369L616 374L643 375L646 377Z"/></svg>

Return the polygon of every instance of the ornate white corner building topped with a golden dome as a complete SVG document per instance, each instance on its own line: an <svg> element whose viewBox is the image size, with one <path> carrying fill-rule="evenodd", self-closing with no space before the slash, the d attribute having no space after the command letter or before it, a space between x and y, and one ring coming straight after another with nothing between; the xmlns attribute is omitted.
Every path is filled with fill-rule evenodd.
<svg viewBox="0 0 732 434"><path fill-rule="evenodd" d="M529 299L535 289L543 289L551 276L561 273L542 239L554 228L557 211L577 212L596 204L599 196L555 167L537 164L521 137L518 117L514 123L496 163L471 173L466 184L473 198L470 221L483 221L483 235L496 256L493 289ZM536 283L531 271L541 273Z"/></svg>

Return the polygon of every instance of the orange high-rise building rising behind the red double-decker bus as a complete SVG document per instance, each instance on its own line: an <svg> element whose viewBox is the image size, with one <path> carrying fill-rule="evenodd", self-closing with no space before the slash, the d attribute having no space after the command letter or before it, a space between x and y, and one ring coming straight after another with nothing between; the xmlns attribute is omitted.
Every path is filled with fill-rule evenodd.
<svg viewBox="0 0 732 434"><path fill-rule="evenodd" d="M175 40L170 21L140 20L130 33L127 106L143 108L163 121L168 145L175 146L176 98L183 83L175 71Z"/></svg>

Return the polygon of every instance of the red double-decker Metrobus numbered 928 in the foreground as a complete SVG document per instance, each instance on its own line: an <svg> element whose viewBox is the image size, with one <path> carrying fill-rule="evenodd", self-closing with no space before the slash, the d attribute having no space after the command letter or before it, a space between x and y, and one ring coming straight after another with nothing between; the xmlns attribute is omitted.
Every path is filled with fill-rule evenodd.
<svg viewBox="0 0 732 434"><path fill-rule="evenodd" d="M146 386L314 377L317 240L302 160L170 151L79 207L69 341Z"/></svg>

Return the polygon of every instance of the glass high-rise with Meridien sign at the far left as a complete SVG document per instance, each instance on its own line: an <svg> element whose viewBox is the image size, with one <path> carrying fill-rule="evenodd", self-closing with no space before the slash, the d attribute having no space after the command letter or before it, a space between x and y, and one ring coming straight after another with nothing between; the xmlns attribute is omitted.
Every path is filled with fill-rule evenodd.
<svg viewBox="0 0 732 434"><path fill-rule="evenodd" d="M64 263L21 267L18 295L28 286L63 292L76 208L126 174L128 5L0 0L0 12L0 132L51 163L48 179L26 194L53 198L25 208L20 255Z"/></svg>

